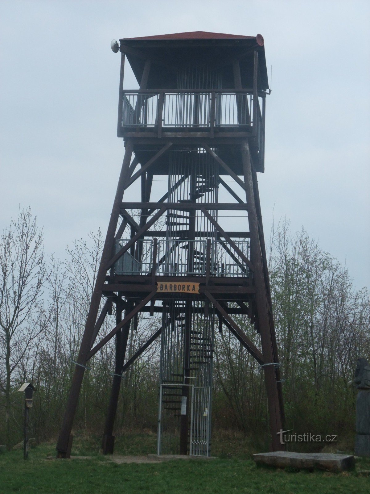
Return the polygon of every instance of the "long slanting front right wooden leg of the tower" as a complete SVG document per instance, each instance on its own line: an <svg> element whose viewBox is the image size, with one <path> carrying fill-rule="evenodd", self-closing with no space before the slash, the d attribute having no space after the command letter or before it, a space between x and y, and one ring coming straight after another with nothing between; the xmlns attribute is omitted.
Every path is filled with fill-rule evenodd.
<svg viewBox="0 0 370 494"><path fill-rule="evenodd" d="M246 199L248 205L248 221L251 232L251 257L253 257L254 265L254 281L256 285L256 307L259 320L259 331L261 335L261 346L263 354L263 371L265 374L267 405L271 433L271 449L272 451L281 451L284 446L280 444L278 433L283 428L281 416L280 397L278 393L278 385L276 382L276 371L273 365L274 348L271 337L270 320L267 308L266 287L263 276L262 265L262 250L259 241L259 225L256 211L256 202L253 189L252 163L249 152L248 141L244 141L241 145L244 182L246 190Z"/></svg>

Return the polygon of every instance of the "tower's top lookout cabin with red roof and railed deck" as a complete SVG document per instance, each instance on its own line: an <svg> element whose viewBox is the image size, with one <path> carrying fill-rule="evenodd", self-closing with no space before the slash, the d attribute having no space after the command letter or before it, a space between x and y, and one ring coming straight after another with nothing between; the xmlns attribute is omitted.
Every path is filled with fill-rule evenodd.
<svg viewBox="0 0 370 494"><path fill-rule="evenodd" d="M230 149L248 139L257 171L264 171L265 98L269 94L264 41L260 35L177 33L120 40L122 54L117 136L141 151L164 143L179 148ZM127 58L138 89L124 89ZM239 172L240 170L234 170ZM167 173L164 164L155 173Z"/></svg>

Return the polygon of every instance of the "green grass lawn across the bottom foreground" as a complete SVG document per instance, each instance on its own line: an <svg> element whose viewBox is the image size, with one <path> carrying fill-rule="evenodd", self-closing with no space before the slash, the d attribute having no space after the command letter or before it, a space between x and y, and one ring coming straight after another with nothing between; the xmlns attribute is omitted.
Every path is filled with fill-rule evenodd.
<svg viewBox="0 0 370 494"><path fill-rule="evenodd" d="M116 451L120 450L119 453L143 454L145 449L150 449L149 453L152 453L155 435L126 434L119 442L117 441L116 448ZM85 444L85 451L82 451L82 444ZM127 444L130 446L128 447ZM80 455L88 453L91 455L89 459L46 459L48 456L55 456L54 444L42 444L32 448L28 461L23 460L21 450L0 454L0 493L369 494L370 492L370 479L357 472L359 469L369 470L370 460L362 460L356 470L340 474L260 468L251 459L236 457L208 461L174 460L155 464L117 464L98 453L94 437L89 438L88 446L89 448L86 446L86 440L77 439L74 453ZM226 445L227 449L228 445Z"/></svg>

